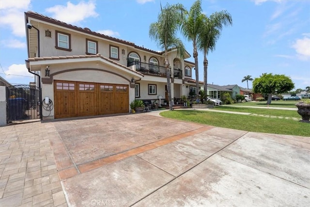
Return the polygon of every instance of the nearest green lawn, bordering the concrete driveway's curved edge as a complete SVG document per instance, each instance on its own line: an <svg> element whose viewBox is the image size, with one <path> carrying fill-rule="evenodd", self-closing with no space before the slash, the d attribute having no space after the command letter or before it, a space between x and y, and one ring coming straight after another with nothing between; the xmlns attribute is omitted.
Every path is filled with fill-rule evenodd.
<svg viewBox="0 0 310 207"><path fill-rule="evenodd" d="M297 113L296 111L294 112ZM266 118L260 116L198 110L163 111L160 115L171 119L195 122L215 127L306 137L309 137L310 135L309 123L279 118Z"/></svg>

